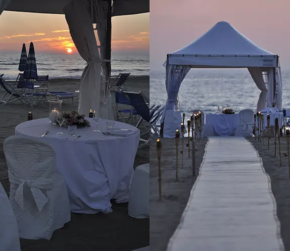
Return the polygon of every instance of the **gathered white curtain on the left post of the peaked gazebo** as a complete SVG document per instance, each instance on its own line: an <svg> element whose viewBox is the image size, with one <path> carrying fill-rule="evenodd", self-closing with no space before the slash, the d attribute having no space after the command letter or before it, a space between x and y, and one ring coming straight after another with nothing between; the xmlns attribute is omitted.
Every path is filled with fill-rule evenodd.
<svg viewBox="0 0 290 251"><path fill-rule="evenodd" d="M174 138L176 129L180 130L182 122L180 111L174 109L180 84L190 70L188 65L166 65L166 89L167 101L162 114L161 121L164 122L163 136Z"/></svg>

